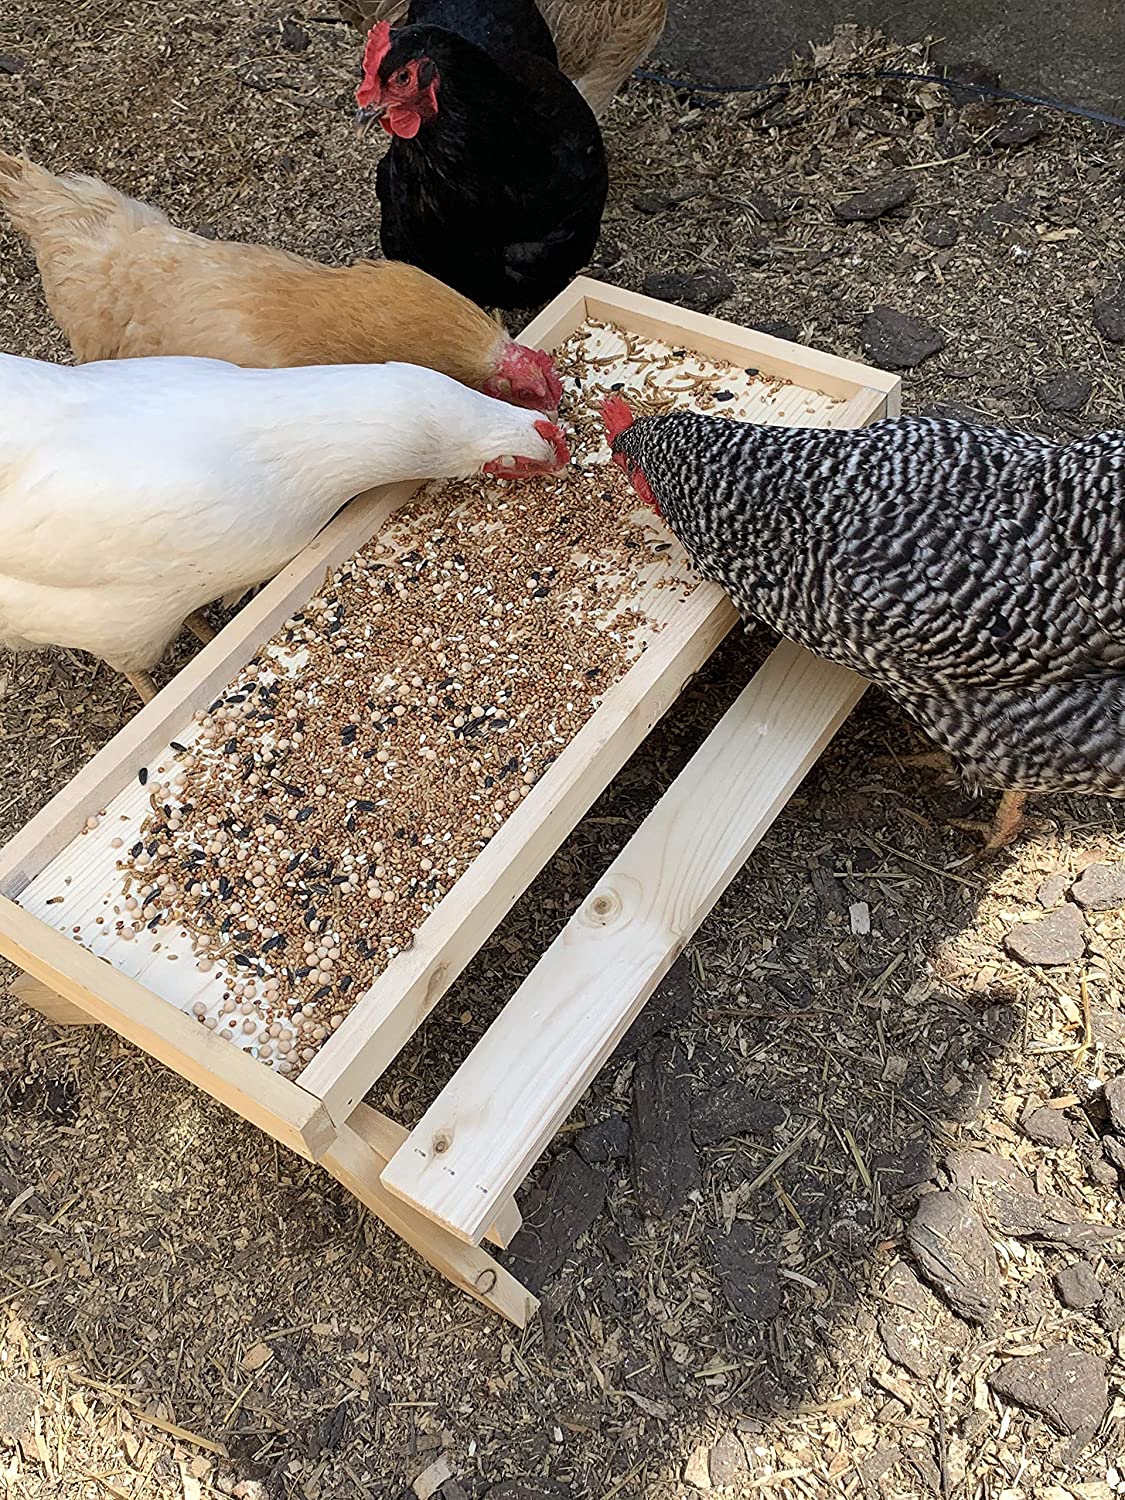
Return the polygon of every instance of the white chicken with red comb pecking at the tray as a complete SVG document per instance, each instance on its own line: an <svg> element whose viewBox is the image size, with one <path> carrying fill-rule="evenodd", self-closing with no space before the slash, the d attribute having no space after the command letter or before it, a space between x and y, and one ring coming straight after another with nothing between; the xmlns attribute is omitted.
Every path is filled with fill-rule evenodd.
<svg viewBox="0 0 1125 1500"><path fill-rule="evenodd" d="M184 620L272 578L352 495L567 459L538 412L414 364L0 354L0 644L92 651L147 702Z"/></svg>

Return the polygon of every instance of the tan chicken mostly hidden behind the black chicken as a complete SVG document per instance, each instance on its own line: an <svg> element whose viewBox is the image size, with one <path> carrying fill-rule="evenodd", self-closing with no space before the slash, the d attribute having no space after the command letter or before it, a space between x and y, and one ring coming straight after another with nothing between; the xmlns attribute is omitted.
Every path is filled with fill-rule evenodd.
<svg viewBox="0 0 1125 1500"><path fill-rule="evenodd" d="M340 15L369 32L376 21L404 22L410 0L339 0ZM614 94L660 40L668 0L538 0L558 51L558 66L602 117Z"/></svg>

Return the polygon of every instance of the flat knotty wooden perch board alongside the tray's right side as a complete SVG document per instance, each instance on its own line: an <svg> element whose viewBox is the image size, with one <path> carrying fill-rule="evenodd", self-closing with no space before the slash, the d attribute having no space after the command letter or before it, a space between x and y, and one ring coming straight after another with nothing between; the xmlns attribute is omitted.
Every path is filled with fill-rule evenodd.
<svg viewBox="0 0 1125 1500"><path fill-rule="evenodd" d="M864 690L783 642L382 1174L476 1242Z"/></svg>

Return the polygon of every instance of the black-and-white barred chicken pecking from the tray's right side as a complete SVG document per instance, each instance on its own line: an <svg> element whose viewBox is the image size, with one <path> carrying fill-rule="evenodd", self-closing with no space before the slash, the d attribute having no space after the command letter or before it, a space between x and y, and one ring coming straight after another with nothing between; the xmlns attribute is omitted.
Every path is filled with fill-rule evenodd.
<svg viewBox="0 0 1125 1500"><path fill-rule="evenodd" d="M1125 796L1125 432L1059 447L962 422L858 432L632 418L616 464L744 615L879 684L1000 788Z"/></svg>

